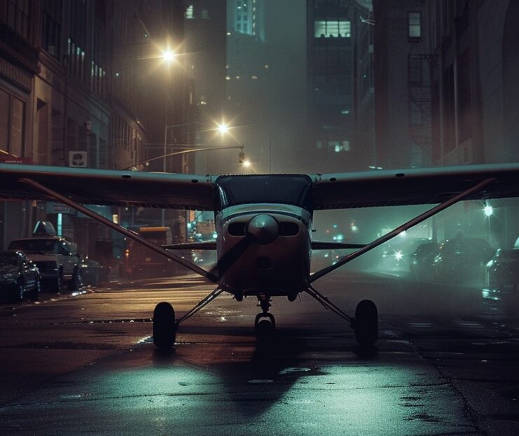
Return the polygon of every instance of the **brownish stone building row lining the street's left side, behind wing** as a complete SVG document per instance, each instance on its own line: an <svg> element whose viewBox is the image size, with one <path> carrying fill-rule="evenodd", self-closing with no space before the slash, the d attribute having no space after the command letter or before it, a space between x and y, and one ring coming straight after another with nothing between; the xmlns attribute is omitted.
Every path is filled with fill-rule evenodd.
<svg viewBox="0 0 519 436"><path fill-rule="evenodd" d="M184 5L155 3L0 1L0 160L123 169L138 162L145 143L163 140L164 125L184 116L178 101L186 98L160 80L157 46L166 36L181 42ZM175 109L165 119L168 105ZM112 218L109 208L99 212ZM59 204L4 202L0 245L32 234L41 219L85 255L109 236Z"/></svg>

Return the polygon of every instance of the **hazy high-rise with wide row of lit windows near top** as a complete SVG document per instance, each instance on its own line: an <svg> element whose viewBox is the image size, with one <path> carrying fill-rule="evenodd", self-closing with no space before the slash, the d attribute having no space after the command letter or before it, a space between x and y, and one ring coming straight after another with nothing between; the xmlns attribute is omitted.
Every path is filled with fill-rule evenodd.
<svg viewBox="0 0 519 436"><path fill-rule="evenodd" d="M367 169L375 164L371 11L354 0L307 2L307 167Z"/></svg>

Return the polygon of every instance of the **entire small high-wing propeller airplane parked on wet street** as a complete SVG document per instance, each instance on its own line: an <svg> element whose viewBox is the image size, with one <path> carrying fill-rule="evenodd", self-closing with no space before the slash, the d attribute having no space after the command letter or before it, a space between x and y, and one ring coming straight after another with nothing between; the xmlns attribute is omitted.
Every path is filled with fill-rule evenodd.
<svg viewBox="0 0 519 436"><path fill-rule="evenodd" d="M153 342L159 349L174 346L179 324L223 292L237 301L257 298L261 307L255 320L258 340L275 330L275 318L269 312L272 297L293 301L307 293L350 323L360 346L371 346L378 340L375 303L361 300L354 317L349 316L315 289L314 281L456 202L505 197L519 197L519 164L226 176L0 164L0 199L62 202L215 284L207 297L178 320L171 304L156 305ZM160 246L83 204L214 211L216 242ZM369 244L312 241L314 211L409 204L431 204L431 209ZM172 252L179 248L216 250L216 266L207 271ZM311 273L312 250L333 248L355 251Z"/></svg>

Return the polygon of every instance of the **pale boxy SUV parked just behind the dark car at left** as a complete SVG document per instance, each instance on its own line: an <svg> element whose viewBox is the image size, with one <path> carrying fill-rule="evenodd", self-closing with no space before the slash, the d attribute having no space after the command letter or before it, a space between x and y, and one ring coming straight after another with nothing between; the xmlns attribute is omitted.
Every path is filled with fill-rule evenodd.
<svg viewBox="0 0 519 436"><path fill-rule="evenodd" d="M34 236L13 239L8 249L22 250L39 269L42 283L54 292L61 292L64 283L69 289L81 286L80 259L76 244L58 236Z"/></svg>

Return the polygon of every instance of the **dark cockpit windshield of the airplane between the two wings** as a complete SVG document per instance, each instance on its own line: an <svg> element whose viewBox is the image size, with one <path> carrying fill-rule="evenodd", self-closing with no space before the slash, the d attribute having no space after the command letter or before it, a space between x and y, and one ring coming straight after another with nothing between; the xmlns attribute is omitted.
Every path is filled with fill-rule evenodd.
<svg viewBox="0 0 519 436"><path fill-rule="evenodd" d="M237 204L281 203L311 210L312 179L303 174L220 176L215 182L216 212Z"/></svg>

